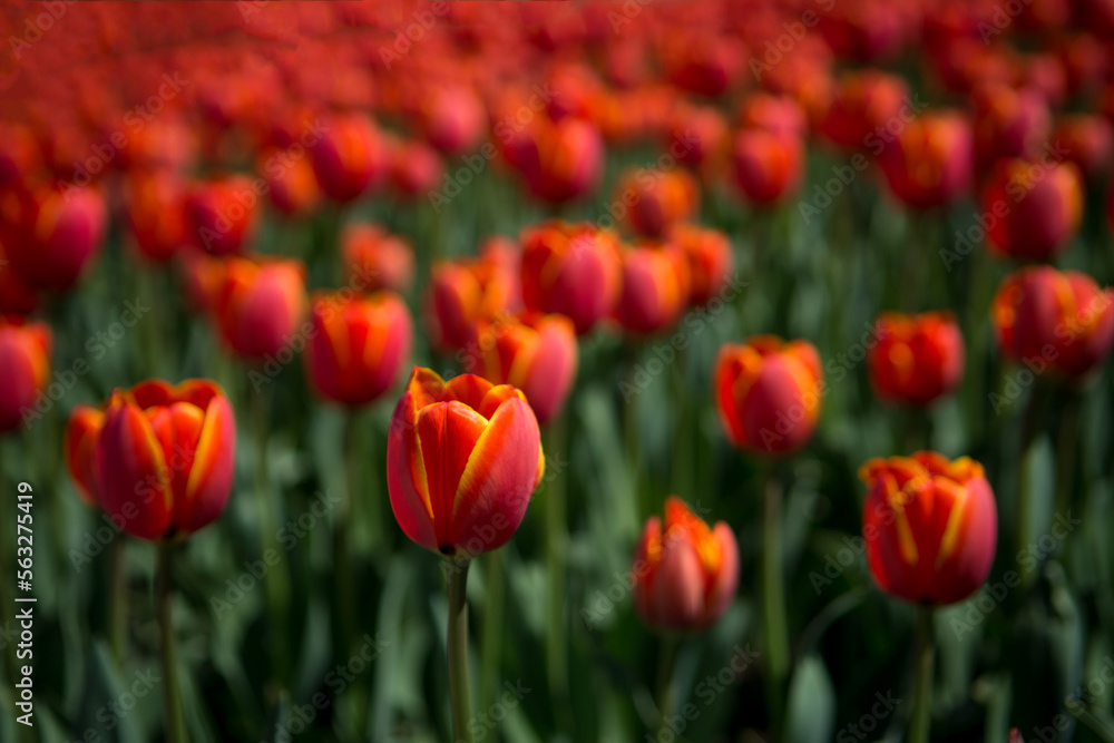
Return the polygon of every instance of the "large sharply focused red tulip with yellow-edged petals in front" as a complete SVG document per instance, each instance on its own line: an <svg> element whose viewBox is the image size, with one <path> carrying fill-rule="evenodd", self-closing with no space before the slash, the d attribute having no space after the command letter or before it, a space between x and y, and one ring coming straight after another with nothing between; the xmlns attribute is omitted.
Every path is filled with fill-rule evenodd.
<svg viewBox="0 0 1114 743"><path fill-rule="evenodd" d="M408 537L446 556L501 547L545 472L534 411L517 389L414 368L394 408L387 487Z"/></svg>

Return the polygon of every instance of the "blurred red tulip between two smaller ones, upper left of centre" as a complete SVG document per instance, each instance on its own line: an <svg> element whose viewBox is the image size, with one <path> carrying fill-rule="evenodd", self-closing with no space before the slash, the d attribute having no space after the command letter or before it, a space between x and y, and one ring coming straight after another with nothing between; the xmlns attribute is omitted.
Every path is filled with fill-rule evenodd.
<svg viewBox="0 0 1114 743"><path fill-rule="evenodd" d="M330 119L309 149L321 190L336 202L359 198L390 172L387 140L370 119L359 114Z"/></svg>

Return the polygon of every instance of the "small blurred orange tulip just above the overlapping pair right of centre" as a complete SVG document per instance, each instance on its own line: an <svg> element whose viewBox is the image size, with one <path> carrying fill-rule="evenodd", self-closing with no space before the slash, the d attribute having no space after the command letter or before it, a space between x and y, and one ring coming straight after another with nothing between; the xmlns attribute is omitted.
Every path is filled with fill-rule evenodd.
<svg viewBox="0 0 1114 743"><path fill-rule="evenodd" d="M615 201L629 207L626 223L639 235L661 237L700 206L700 186L687 170L627 170L615 187Z"/></svg>

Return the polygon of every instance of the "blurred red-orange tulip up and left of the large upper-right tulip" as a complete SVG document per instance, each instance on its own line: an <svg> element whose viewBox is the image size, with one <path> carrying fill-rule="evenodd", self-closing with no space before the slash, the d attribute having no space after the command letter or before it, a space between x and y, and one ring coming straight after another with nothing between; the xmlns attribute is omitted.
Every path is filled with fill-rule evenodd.
<svg viewBox="0 0 1114 743"><path fill-rule="evenodd" d="M967 119L956 111L932 111L902 128L879 164L898 199L929 209L951 204L970 189L974 158Z"/></svg>

